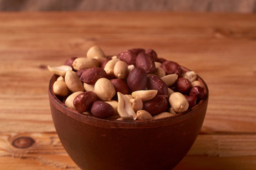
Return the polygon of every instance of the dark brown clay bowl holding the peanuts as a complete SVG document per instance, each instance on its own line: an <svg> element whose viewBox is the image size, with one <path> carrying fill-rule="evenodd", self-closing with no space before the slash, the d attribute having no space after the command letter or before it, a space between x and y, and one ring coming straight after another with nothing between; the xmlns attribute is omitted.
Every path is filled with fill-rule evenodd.
<svg viewBox="0 0 256 170"><path fill-rule="evenodd" d="M172 169L196 140L208 105L204 98L184 114L159 120L118 121L82 115L67 108L53 94L56 75L50 79L49 99L55 129L73 161L85 170Z"/></svg>

